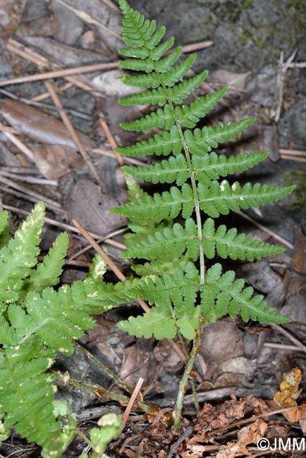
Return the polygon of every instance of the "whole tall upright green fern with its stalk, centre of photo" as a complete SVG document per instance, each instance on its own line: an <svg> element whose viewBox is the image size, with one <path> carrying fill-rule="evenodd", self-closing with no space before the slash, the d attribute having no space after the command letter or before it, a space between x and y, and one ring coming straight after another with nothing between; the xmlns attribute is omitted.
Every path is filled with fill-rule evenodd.
<svg viewBox="0 0 306 458"><path fill-rule="evenodd" d="M121 66L140 72L121 80L144 88L142 92L120 99L119 103L154 106L147 116L122 123L121 127L137 132L159 128L162 132L129 147L118 147L117 151L128 156L166 156L148 167L123 167L130 182L130 202L113 210L130 218L133 231L126 238L128 249L123 256L147 261L133 266L141 278L127 287L147 299L152 308L150 313L129 318L119 326L138 337L154 335L162 339L178 334L193 340L178 392L178 428L183 394L205 323L226 314L232 317L241 314L244 321L251 318L261 323L288 321L267 307L262 296L254 296L252 287L245 287L243 280L235 280L233 271L224 273L219 262L210 261L216 254L222 259L252 261L283 249L244 234L237 235L236 229L215 225L214 218L229 211L274 202L289 194L293 187L252 186L250 183L241 187L238 182L231 185L223 179L267 157L266 152L227 157L212 151L221 142L237 137L254 118L197 128L199 120L224 97L227 88L184 104L205 80L207 71L183 80L195 61L195 54L176 63L182 49L169 51L173 37L161 41L165 27L157 29L155 20L145 19L126 0L119 0L119 4L123 13L123 42L127 45L120 51L126 58ZM149 195L130 175L153 183L170 183L171 187Z"/></svg>

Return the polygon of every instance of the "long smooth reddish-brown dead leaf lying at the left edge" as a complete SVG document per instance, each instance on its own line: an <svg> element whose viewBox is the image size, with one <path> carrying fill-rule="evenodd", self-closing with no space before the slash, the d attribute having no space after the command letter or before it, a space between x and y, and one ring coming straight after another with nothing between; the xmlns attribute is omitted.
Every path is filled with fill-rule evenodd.
<svg viewBox="0 0 306 458"><path fill-rule="evenodd" d="M17 100L4 99L0 103L0 111L9 125L32 140L75 148L68 130L61 121L51 118L32 106ZM89 137L80 132L78 136L85 148L92 148L92 141Z"/></svg>

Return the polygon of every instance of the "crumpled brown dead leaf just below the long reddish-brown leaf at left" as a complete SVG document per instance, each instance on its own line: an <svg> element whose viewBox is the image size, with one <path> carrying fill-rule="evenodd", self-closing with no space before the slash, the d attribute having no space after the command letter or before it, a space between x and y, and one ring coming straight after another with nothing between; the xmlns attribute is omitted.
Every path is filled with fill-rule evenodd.
<svg viewBox="0 0 306 458"><path fill-rule="evenodd" d="M72 168L85 166L74 148L59 144L41 144L31 147L39 171L49 180L58 180Z"/></svg>

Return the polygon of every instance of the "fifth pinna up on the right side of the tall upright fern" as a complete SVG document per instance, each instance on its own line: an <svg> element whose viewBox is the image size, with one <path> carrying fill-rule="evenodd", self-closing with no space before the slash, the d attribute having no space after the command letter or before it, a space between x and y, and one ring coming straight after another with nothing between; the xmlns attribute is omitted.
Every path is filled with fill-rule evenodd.
<svg viewBox="0 0 306 458"><path fill-rule="evenodd" d="M237 137L243 130L255 121L255 118L245 118L236 123L225 125L205 126L202 129L185 130L184 137L190 152L202 156L218 147L222 142L228 142Z"/></svg>

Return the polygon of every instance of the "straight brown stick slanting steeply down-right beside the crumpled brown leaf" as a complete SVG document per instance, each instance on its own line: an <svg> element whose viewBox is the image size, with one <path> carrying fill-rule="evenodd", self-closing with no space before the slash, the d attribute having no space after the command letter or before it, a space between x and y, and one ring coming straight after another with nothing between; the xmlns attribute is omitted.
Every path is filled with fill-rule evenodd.
<svg viewBox="0 0 306 458"><path fill-rule="evenodd" d="M47 90L49 94L51 95L51 99L54 102L54 105L57 108L62 109L63 105L61 104L61 101L58 95L56 94L54 88L50 85L49 82L45 82L44 84L46 85ZM80 142L78 134L75 132L75 128L71 124L71 120L68 118L67 113L64 113L63 111L59 111L59 114L61 116L63 123L66 125L66 129L68 130L69 134L71 135L73 142L75 142L75 145L78 147L78 150L80 151L80 154L82 155L82 158L87 163L88 168L90 168L92 175L94 175L94 178L97 180L99 185L102 187L102 190L105 190L104 182L102 181L102 178L99 176L97 169L94 167L94 164L90 160L89 154L87 154L87 151L85 150L82 143Z"/></svg>

